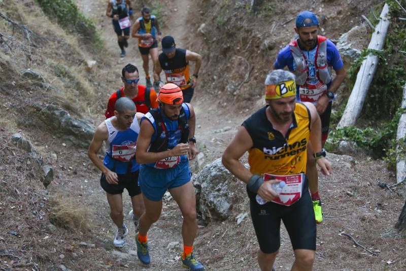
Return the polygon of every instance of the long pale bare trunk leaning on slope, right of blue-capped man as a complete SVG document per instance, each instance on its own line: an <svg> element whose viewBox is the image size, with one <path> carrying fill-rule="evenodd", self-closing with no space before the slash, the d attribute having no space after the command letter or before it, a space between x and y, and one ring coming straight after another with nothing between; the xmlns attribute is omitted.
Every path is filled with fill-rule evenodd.
<svg viewBox="0 0 406 271"><path fill-rule="evenodd" d="M382 50L390 24L388 13L389 6L388 4L385 4L380 15L381 20L375 27L375 32L372 34L368 49ZM348 99L346 109L344 110L337 128L343 128L355 124L357 117L361 113L366 93L368 92L369 85L377 70L377 66L378 56L372 53L370 53L362 62L350 98Z"/></svg>

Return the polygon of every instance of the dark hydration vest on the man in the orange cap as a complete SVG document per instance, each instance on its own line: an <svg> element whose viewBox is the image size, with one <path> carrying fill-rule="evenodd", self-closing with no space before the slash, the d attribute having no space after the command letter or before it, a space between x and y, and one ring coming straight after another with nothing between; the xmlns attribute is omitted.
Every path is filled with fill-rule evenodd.
<svg viewBox="0 0 406 271"><path fill-rule="evenodd" d="M166 132L166 125L162 117L161 109L151 109L147 114L145 114L145 117L150 121L151 116L155 120L157 137L155 141L151 142L149 152L164 152L168 149L168 133ZM178 128L182 131L181 140L179 143L187 143L190 129L189 124L187 123L186 112L185 109L183 109L183 106L178 117Z"/></svg>

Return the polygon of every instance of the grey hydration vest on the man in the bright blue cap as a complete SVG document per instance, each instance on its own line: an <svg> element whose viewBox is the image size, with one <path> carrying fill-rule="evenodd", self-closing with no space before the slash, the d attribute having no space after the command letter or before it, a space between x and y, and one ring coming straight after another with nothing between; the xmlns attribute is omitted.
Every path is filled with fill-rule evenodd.
<svg viewBox="0 0 406 271"><path fill-rule="evenodd" d="M296 64L296 84L304 85L309 77L308 59L303 54L297 44L297 40L289 44L290 51L293 55L293 60ZM327 38L324 36L317 36L317 49L314 59L316 67L317 78L324 84L328 84L332 80L331 68L327 64Z"/></svg>

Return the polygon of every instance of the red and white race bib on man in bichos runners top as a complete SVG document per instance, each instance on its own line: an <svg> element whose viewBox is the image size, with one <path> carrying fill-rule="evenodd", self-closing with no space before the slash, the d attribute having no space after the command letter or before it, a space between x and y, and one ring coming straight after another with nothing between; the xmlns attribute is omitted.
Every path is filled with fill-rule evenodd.
<svg viewBox="0 0 406 271"><path fill-rule="evenodd" d="M302 193L302 188L303 188L303 182L304 182L304 174L299 173L295 175L273 175L273 174L268 174L265 173L263 175L263 180L270 180L270 179L278 179L278 180L283 180L286 185L283 187L281 194L279 194L279 197L275 198L272 200L272 202L285 205L285 206L290 206L296 201L298 201L301 198L301 193Z"/></svg>

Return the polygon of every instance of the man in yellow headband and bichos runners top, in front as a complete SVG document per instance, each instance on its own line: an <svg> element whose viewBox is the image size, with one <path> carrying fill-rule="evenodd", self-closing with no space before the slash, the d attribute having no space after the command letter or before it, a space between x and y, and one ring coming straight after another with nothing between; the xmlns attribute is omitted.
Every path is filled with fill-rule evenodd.
<svg viewBox="0 0 406 271"><path fill-rule="evenodd" d="M261 270L273 270L280 247L281 220L295 255L292 270L312 270L316 222L306 176L309 141L317 150L314 156L323 174L331 172L322 152L320 117L313 104L296 103L295 76L291 72L271 72L265 89L266 106L240 127L223 154L223 164L247 184ZM245 152L249 153L250 169L239 161ZM282 188L279 193L278 187Z"/></svg>

